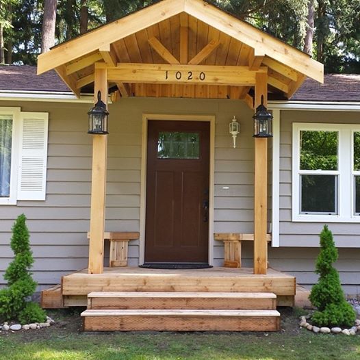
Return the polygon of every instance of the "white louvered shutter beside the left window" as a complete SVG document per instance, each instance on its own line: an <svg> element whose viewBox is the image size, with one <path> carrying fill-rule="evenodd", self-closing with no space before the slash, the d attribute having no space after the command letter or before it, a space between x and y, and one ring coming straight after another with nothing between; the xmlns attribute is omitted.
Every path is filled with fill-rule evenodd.
<svg viewBox="0 0 360 360"><path fill-rule="evenodd" d="M21 112L18 200L45 200L49 115Z"/></svg>

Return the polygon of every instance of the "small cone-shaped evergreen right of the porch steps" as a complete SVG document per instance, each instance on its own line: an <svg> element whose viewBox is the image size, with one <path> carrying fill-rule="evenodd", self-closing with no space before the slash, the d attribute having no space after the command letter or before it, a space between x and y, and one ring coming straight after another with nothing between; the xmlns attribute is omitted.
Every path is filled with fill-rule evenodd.
<svg viewBox="0 0 360 360"><path fill-rule="evenodd" d="M316 273L320 277L309 296L318 311L313 313L311 320L318 326L352 326L356 314L346 302L339 273L333 268L338 254L333 234L326 225L320 233L320 246L320 254L316 259Z"/></svg>

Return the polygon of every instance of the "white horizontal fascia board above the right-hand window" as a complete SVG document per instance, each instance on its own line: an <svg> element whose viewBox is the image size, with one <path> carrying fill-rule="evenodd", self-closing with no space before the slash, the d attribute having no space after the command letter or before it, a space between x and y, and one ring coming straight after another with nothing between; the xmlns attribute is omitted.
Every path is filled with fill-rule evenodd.
<svg viewBox="0 0 360 360"><path fill-rule="evenodd" d="M360 102L346 101L268 101L271 110L303 110L303 111L360 111Z"/></svg>

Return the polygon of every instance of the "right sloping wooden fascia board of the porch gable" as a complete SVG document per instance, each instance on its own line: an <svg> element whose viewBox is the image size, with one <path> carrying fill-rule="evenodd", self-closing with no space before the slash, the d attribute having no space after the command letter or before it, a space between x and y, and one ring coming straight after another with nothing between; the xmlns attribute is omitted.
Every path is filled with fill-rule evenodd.
<svg viewBox="0 0 360 360"><path fill-rule="evenodd" d="M290 47L281 40L256 29L205 1L184 1L185 12L189 15L216 27L224 34L244 42L253 49L261 48L266 55L274 60L311 77L311 79L324 83L324 65L311 59L309 55Z"/></svg>

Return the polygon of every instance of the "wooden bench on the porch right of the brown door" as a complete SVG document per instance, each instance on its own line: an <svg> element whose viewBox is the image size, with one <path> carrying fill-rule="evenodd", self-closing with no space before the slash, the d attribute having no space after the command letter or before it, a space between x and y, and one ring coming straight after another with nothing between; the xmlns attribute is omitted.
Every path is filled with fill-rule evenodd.
<svg viewBox="0 0 360 360"><path fill-rule="evenodd" d="M224 267L241 268L241 243L254 241L254 234L246 233L214 233L214 239L224 242ZM266 240L271 241L271 235L266 235Z"/></svg>

